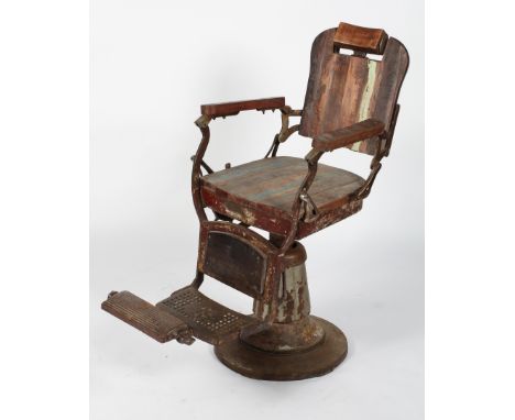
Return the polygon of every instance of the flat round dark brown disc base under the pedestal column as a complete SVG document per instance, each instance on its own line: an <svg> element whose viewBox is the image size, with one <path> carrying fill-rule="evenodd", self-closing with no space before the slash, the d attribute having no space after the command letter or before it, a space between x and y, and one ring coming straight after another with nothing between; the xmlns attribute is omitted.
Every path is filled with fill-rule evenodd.
<svg viewBox="0 0 515 420"><path fill-rule="evenodd" d="M239 336L215 346L215 354L230 369L264 380L298 380L333 371L347 356L341 330L321 318L310 317L325 331L324 339L303 352L272 353L245 344Z"/></svg>

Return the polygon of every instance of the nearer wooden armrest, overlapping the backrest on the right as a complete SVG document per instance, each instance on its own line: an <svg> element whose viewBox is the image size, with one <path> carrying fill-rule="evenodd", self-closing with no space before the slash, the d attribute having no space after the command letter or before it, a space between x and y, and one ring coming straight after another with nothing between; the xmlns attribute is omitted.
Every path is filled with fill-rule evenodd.
<svg viewBox="0 0 515 420"><path fill-rule="evenodd" d="M319 152L332 152L336 148L347 147L362 140L377 136L383 132L383 122L368 119L344 129L320 134L313 140L311 146Z"/></svg>

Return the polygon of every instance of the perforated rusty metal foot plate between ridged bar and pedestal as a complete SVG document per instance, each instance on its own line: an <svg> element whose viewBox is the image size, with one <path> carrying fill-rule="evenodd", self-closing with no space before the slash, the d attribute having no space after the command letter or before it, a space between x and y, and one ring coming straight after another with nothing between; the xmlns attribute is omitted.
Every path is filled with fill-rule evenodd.
<svg viewBox="0 0 515 420"><path fill-rule="evenodd" d="M156 307L186 322L197 339L213 345L239 333L243 327L259 322L217 303L191 286L174 291Z"/></svg>

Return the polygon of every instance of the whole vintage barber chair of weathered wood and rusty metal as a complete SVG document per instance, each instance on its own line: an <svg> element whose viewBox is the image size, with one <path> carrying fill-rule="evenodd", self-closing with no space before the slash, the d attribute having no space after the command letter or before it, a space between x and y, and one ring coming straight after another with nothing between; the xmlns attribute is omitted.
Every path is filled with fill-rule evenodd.
<svg viewBox="0 0 515 420"><path fill-rule="evenodd" d="M302 110L284 98L201 106L196 124L202 140L191 176L200 222L196 278L155 306L113 291L102 308L162 343L211 343L224 365L249 377L288 380L331 372L347 355L347 340L309 314L306 251L297 241L361 210L390 153L407 67L406 48L383 30L340 23L313 44ZM202 159L209 123L248 110L280 110L281 132L264 158L213 172ZM299 124L289 125L291 117L299 117ZM313 139L313 148L304 158L277 156L296 131ZM318 163L341 147L373 156L366 179ZM208 220L206 207L216 220ZM205 275L251 296L253 313L202 295Z"/></svg>

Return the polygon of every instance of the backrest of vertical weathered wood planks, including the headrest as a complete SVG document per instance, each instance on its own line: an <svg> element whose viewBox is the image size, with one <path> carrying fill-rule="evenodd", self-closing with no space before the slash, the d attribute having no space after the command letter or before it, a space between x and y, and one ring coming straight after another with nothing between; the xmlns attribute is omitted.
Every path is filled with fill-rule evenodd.
<svg viewBox="0 0 515 420"><path fill-rule="evenodd" d="M340 48L353 55L340 54ZM382 55L382 59L368 57ZM393 131L397 98L409 64L405 46L383 30L340 23L319 34L311 47L311 66L299 134L315 137L374 118ZM379 142L350 148L374 154Z"/></svg>

